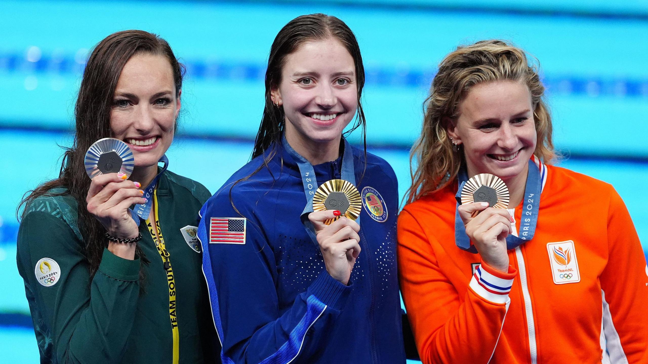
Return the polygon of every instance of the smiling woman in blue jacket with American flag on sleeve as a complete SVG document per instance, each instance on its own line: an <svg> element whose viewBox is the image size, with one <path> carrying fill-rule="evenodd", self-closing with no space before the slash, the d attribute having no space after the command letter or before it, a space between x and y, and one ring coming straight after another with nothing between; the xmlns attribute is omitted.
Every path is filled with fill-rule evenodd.
<svg viewBox="0 0 648 364"><path fill-rule="evenodd" d="M354 117L350 131L365 129L363 85L358 42L340 19L300 16L277 34L253 159L207 201L198 227L224 363L405 362L396 176L343 136ZM340 217L338 196L313 212L332 179L357 187L359 217Z"/></svg>

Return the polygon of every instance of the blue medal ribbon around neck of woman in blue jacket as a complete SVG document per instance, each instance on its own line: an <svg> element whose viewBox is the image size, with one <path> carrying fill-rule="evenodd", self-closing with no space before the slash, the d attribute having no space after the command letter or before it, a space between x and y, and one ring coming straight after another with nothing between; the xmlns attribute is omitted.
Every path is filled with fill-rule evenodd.
<svg viewBox="0 0 648 364"><path fill-rule="evenodd" d="M351 150L351 144L347 142L347 139L342 138L342 140L344 141L344 154L342 155L341 179L349 181L352 185L355 186L356 175L353 166L353 150ZM292 146L288 144L285 135L283 137L283 146L288 151L288 154L290 154L295 159L295 162L297 162L297 166L299 166L299 174L301 174L301 181L304 185L304 193L306 194L306 207L301 213L301 223L303 223L304 227L306 228L306 231L308 232L311 240L315 244L318 244L318 240L315 235L315 228L313 227L313 224L310 222L310 220L308 220L308 214L310 214L310 212L313 212L313 197L315 196L316 190L318 190L318 180L315 177L315 170L306 158L299 155L299 153L297 153L292 148ZM360 220L360 216L358 216L358 220ZM356 221L359 223L358 220Z"/></svg>

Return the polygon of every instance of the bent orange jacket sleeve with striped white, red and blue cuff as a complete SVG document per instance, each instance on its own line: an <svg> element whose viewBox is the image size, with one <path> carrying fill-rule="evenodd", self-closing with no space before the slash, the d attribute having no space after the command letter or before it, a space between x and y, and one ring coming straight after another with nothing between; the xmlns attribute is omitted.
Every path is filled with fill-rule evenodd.
<svg viewBox="0 0 648 364"><path fill-rule="evenodd" d="M434 221L426 218L426 225ZM441 225L441 224L439 224ZM398 223L400 288L423 363L488 363L495 350L517 271L498 272L481 264L465 297L435 258L434 236L410 212Z"/></svg>

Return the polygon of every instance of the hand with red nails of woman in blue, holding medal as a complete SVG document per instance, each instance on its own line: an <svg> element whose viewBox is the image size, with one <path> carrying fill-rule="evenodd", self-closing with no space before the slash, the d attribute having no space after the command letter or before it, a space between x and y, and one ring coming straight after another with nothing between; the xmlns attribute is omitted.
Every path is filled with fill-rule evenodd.
<svg viewBox="0 0 648 364"><path fill-rule="evenodd" d="M326 225L327 220L340 216L340 211L311 212L308 220L315 227L319 249L330 276L341 284L348 284L356 258L360 255L360 225L342 216Z"/></svg>

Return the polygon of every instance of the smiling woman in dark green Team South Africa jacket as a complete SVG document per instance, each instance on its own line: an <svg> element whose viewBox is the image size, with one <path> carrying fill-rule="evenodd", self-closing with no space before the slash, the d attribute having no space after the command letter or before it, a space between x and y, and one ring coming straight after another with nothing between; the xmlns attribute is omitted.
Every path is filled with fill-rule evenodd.
<svg viewBox="0 0 648 364"><path fill-rule="evenodd" d="M167 41L141 30L90 54L60 175L21 203L17 266L43 363L218 361L195 239L209 191L165 157L183 71ZM86 150L106 137L132 150L130 179L88 178Z"/></svg>

